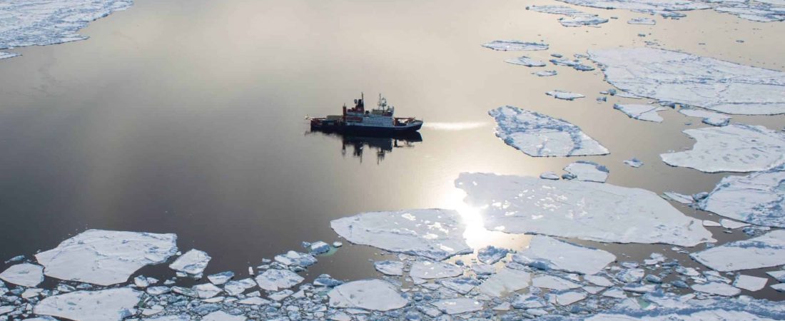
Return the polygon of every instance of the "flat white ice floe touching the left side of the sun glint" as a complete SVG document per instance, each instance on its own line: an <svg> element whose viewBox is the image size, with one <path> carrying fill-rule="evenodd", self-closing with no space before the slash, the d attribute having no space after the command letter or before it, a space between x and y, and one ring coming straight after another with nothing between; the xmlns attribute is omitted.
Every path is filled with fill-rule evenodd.
<svg viewBox="0 0 785 321"><path fill-rule="evenodd" d="M330 222L351 243L444 260L472 249L463 239L466 225L455 210L400 210L360 213Z"/></svg>

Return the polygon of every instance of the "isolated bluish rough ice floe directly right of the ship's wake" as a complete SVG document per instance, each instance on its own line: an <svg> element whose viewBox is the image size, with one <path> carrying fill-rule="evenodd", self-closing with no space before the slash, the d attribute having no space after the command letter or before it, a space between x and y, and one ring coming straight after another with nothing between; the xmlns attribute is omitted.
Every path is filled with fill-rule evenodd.
<svg viewBox="0 0 785 321"><path fill-rule="evenodd" d="M606 155L608 149L562 119L505 106L488 111L498 126L496 137L534 157Z"/></svg>

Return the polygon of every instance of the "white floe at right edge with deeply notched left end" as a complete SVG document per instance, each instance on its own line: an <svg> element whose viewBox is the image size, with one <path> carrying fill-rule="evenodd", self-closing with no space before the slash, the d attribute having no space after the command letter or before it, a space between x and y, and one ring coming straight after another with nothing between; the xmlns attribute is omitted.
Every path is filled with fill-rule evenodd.
<svg viewBox="0 0 785 321"><path fill-rule="evenodd" d="M724 127L686 129L697 140L689 151L661 154L670 166L707 173L753 172L785 164L785 133L763 126L732 123Z"/></svg>

